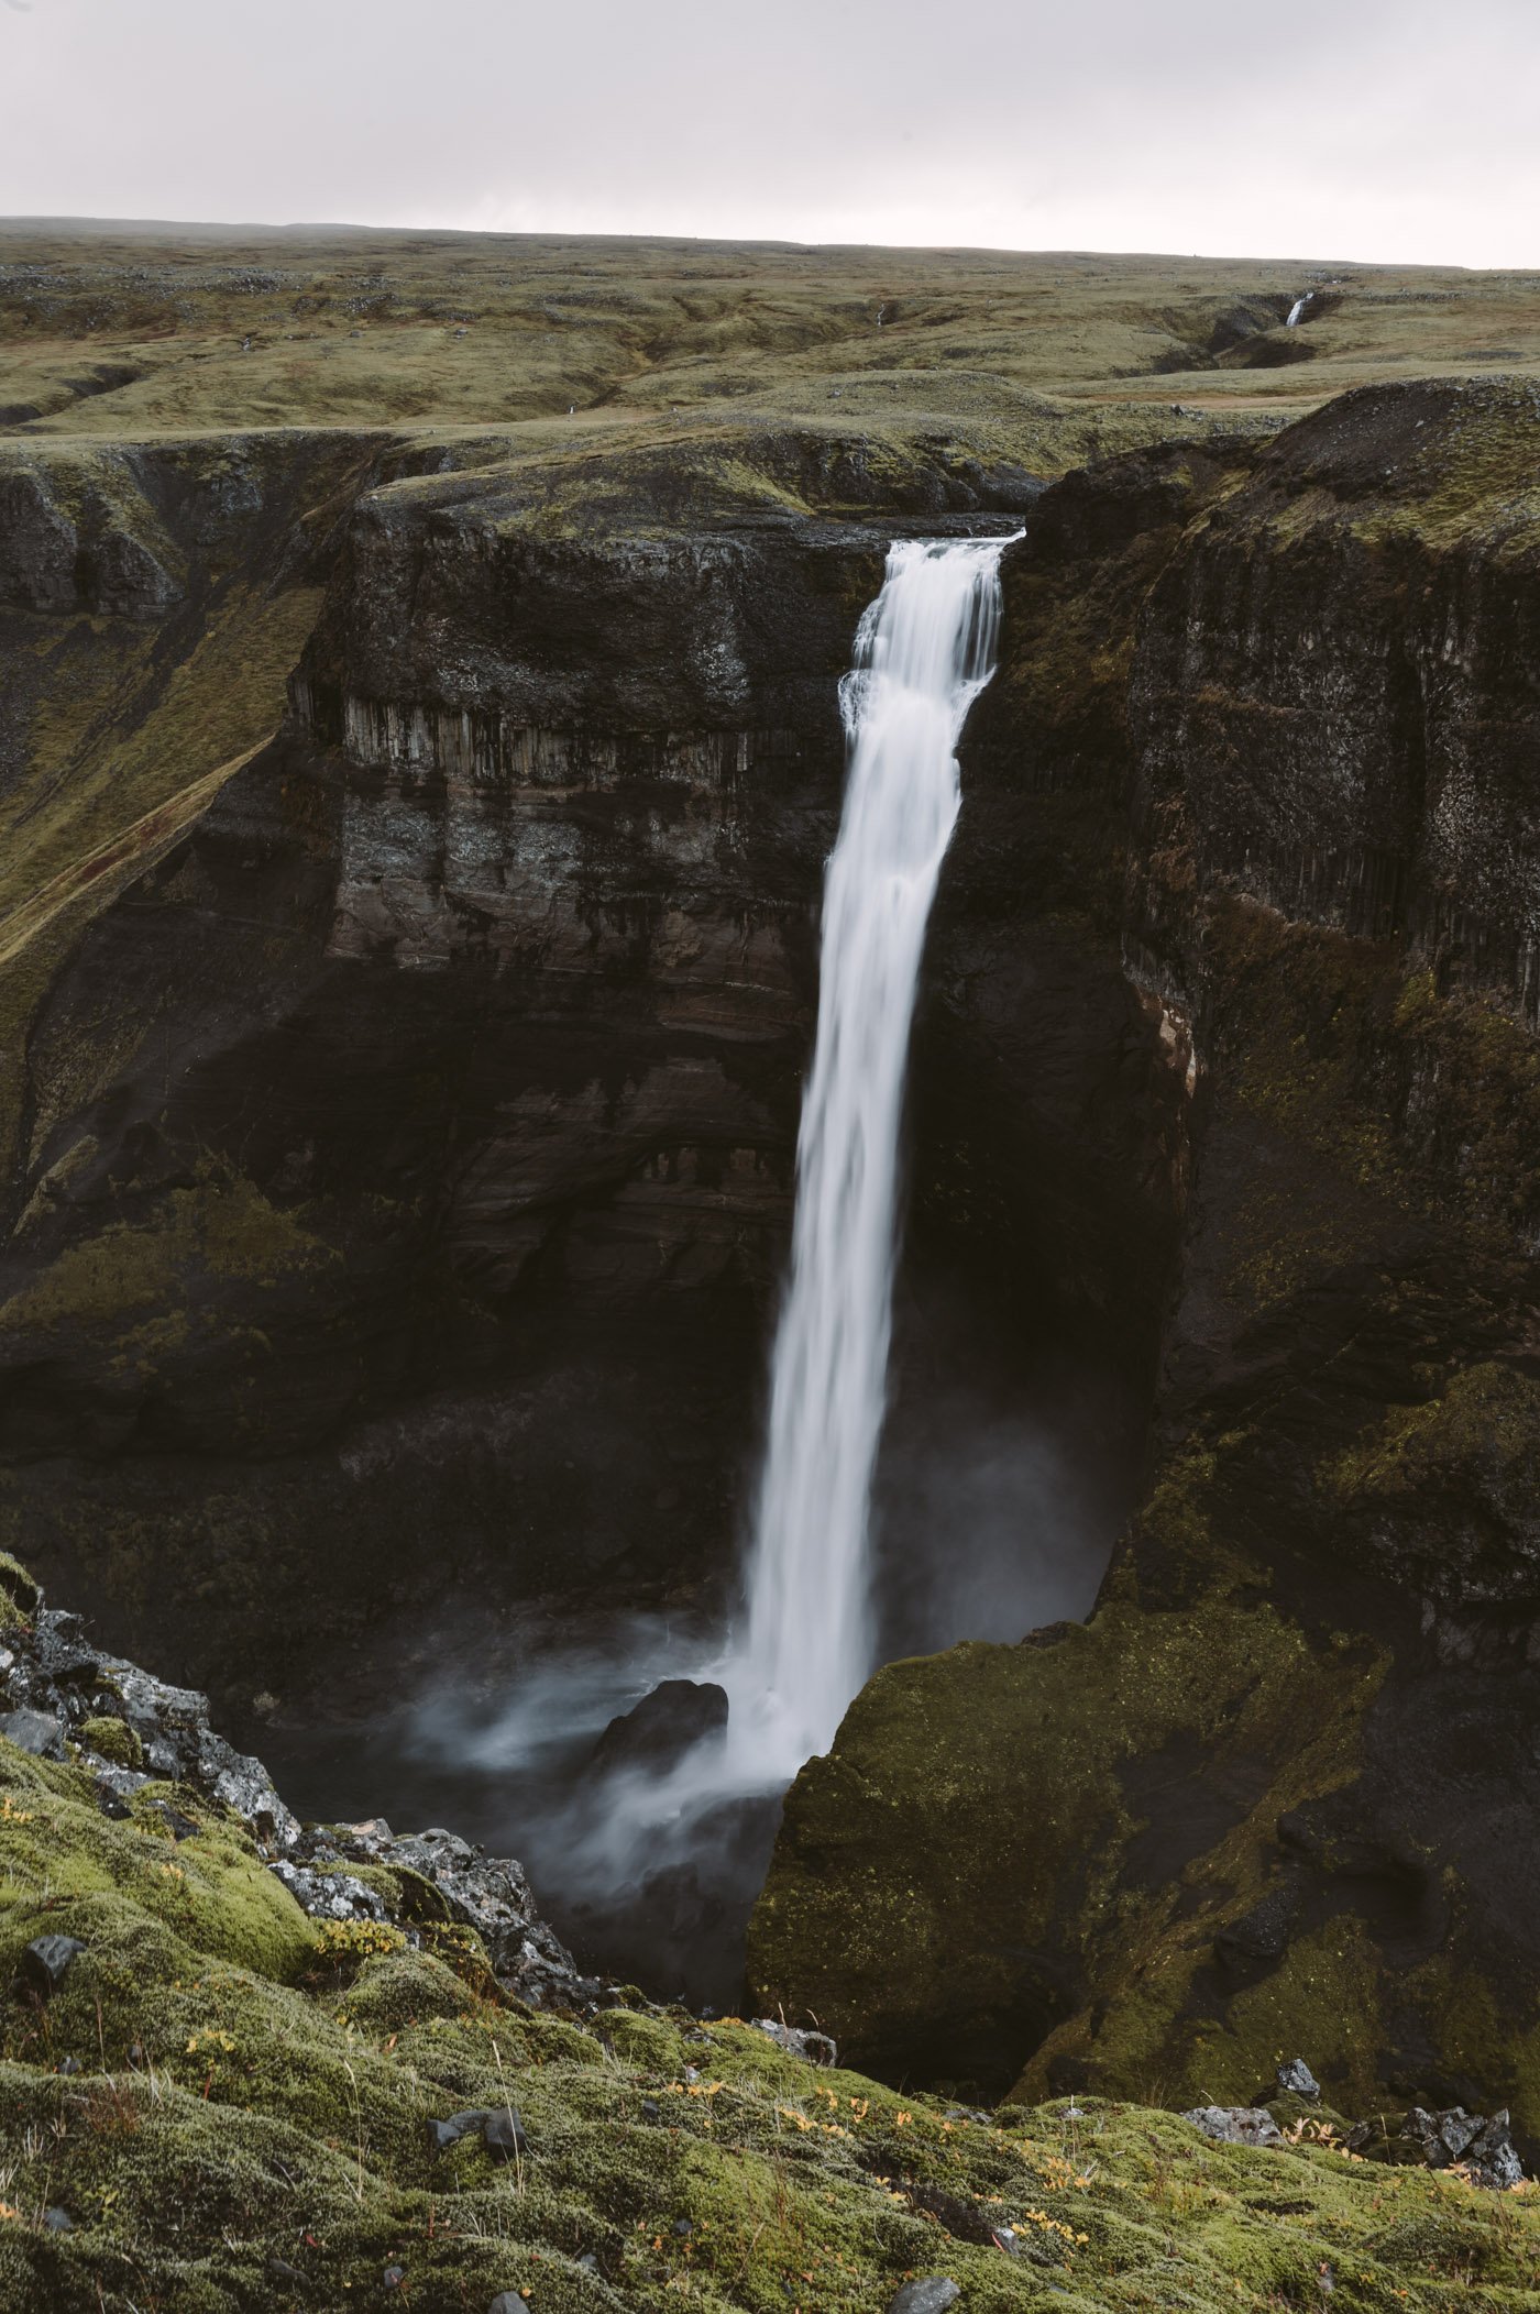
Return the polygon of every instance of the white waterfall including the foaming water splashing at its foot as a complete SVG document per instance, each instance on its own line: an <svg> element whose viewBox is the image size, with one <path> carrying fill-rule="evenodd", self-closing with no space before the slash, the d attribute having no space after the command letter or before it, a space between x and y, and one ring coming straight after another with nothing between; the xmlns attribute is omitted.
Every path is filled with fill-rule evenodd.
<svg viewBox="0 0 1540 2314"><path fill-rule="evenodd" d="M660 1678L727 1689L720 1738L690 1745L665 1770L646 1759L600 1777L586 1770L560 1805L551 1872L600 1916L618 1918L616 1907L630 1916L651 1877L667 1884L679 1870L695 1891L688 1904L699 1902L704 1874L713 1904L746 1911L769 1854L755 1847L764 1819L748 1819L741 1847L743 1828L734 1833L718 1807L785 1791L813 1752L829 1749L873 1668L871 1481L887 1400L903 1078L926 919L959 808L956 740L993 673L1007 544L896 544L841 685L850 771L824 875L817 1037L746 1615L709 1661L667 1624L632 1627L621 1655L533 1666L491 1729L454 1712L421 1722L428 1756L516 1768L530 1784L542 1745L581 1736L591 1749L604 1719ZM720 1923L683 1935L720 1944Z"/></svg>

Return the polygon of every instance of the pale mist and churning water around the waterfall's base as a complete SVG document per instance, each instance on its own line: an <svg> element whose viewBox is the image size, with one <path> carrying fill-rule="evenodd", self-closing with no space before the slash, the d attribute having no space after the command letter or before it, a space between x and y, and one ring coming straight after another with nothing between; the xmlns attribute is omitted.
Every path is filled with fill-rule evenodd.
<svg viewBox="0 0 1540 2314"><path fill-rule="evenodd" d="M1049 1370L980 1340L977 1310L940 1284L901 1310L896 1361L908 1372L873 1488L873 1664L1084 1617L1132 1506L1132 1395L1095 1368ZM936 1365L949 1386L936 1388ZM688 1615L595 1620L579 1648L542 1631L505 1675L505 1701L424 1694L384 1736L389 1773L375 1749L354 1782L357 1812L389 1791L396 1821L452 1823L519 1856L586 1969L736 2011L790 1773L725 1789L725 1747L706 1745L665 1777L593 1766L616 1715L665 1678L711 1668L711 1634Z"/></svg>

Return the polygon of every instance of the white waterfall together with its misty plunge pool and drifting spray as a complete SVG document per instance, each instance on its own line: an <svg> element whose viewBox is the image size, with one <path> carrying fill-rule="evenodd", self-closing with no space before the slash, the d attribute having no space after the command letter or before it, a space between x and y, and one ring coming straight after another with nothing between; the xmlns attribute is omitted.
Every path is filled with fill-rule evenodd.
<svg viewBox="0 0 1540 2314"><path fill-rule="evenodd" d="M586 1641L547 1627L503 1685L512 1701L477 1708L438 1689L327 1773L331 1812L343 1766L357 1812L389 1791L401 1821L431 1814L519 1854L581 1960L665 1995L736 2002L780 1796L878 1661L1084 1615L1116 1525L1112 1499L1093 1504L1086 1486L1107 1437L1095 1388L1065 1391L1058 1375L1047 1395L1063 1402L1044 1418L1044 1391L1010 1375L1003 1344L982 1344L996 1379L982 1386L975 1312L931 1326L943 1354L924 1402L885 1439L910 1030L959 815L956 743L993 673L1007 544L894 544L841 685L848 782L734 1627L725 1641L660 1617L600 1615ZM1077 1425L1079 1451L1068 1449ZM940 1580L924 1597L889 1553L905 1523L931 1530ZM607 1722L660 1680L725 1689L725 1729L672 1766L621 1756L595 1770Z"/></svg>

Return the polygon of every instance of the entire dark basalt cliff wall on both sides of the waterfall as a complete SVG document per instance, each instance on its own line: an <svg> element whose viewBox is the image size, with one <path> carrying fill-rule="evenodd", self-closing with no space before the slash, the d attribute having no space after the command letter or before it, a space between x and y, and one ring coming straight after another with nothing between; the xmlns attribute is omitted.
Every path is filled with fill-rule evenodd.
<svg viewBox="0 0 1540 2314"><path fill-rule="evenodd" d="M1151 1476L1086 1627L889 1666L792 1791L755 1992L875 2071L1306 2048L1540 2129L1538 440L1378 389L1005 555L912 1243L1116 1365ZM836 678L894 521L1031 491L683 470L380 479L280 734L32 1018L5 1520L236 1703L456 1592L729 1576Z"/></svg>

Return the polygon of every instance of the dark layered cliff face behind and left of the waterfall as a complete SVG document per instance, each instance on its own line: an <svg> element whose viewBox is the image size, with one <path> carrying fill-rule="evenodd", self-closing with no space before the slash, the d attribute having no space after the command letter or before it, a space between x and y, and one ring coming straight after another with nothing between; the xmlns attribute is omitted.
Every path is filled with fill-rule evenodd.
<svg viewBox="0 0 1540 2314"><path fill-rule="evenodd" d="M39 1004L0 1523L125 1648L248 1703L336 1689L380 1615L727 1580L838 676L892 507L966 504L924 463L785 472L868 518L667 460L602 521L496 465L368 491L329 532L285 729ZM1105 967L1065 1014L1077 956L1000 872L1017 798L980 784L970 812L915 1229L1005 1326L1088 1321L1142 1386L1169 1250L1156 1014Z"/></svg>

